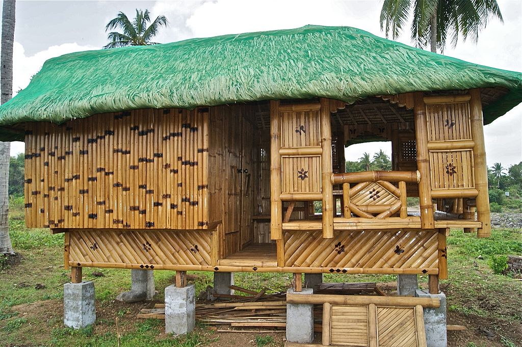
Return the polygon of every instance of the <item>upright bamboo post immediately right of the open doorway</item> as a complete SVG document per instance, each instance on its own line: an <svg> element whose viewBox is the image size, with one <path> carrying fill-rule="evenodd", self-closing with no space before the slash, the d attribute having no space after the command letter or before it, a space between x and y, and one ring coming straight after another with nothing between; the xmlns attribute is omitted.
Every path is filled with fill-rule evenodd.
<svg viewBox="0 0 522 347"><path fill-rule="evenodd" d="M270 100L270 239L280 240L283 236L281 202L281 125L279 102Z"/></svg>

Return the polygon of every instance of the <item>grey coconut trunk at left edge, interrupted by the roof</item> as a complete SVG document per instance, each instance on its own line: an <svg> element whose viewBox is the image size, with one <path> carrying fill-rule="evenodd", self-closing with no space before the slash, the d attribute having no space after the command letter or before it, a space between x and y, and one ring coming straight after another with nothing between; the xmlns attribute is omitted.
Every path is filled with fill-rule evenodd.
<svg viewBox="0 0 522 347"><path fill-rule="evenodd" d="M4 0L2 12L2 53L0 54L0 102L13 97L13 43L15 41L15 0ZM9 238L10 142L0 142L0 254L14 253Z"/></svg>

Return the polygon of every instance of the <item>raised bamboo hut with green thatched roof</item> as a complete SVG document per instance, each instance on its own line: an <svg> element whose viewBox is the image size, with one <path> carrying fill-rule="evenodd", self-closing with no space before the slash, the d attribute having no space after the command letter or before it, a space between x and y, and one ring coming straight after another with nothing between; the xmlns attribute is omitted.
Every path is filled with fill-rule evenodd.
<svg viewBox="0 0 522 347"><path fill-rule="evenodd" d="M25 141L27 226L64 233L75 273L428 274L438 292L449 229L490 236L483 125L521 101L518 72L306 26L49 59L0 136ZM344 147L376 139L393 170L346 173Z"/></svg>

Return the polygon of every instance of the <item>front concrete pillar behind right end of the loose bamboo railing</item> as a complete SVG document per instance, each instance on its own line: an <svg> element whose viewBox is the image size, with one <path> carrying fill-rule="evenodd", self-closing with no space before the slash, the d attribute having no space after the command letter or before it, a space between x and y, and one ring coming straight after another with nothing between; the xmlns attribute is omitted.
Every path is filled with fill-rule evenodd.
<svg viewBox="0 0 522 347"><path fill-rule="evenodd" d="M424 329L426 330L426 342L428 347L446 347L446 294L430 294L417 289L415 296L419 298L438 298L441 306L438 308L424 307Z"/></svg>

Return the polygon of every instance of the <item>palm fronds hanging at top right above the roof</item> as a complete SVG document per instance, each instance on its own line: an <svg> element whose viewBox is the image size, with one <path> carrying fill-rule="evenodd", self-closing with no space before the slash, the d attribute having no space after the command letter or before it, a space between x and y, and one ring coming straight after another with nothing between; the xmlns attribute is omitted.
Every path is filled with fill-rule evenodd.
<svg viewBox="0 0 522 347"><path fill-rule="evenodd" d="M503 21L496 0L384 0L380 22L386 38L399 36L412 10L411 41L423 49L430 43L435 53L444 52L448 35L453 47L459 35L477 42L490 18Z"/></svg>

